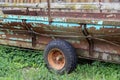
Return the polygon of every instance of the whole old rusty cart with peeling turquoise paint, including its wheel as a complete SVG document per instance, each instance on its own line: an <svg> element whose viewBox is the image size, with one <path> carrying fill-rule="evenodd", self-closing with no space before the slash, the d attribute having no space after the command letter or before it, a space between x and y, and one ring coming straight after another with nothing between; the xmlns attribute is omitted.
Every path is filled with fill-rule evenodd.
<svg viewBox="0 0 120 80"><path fill-rule="evenodd" d="M120 2L1 2L0 9L0 44L44 50L49 69L69 73L77 57L120 63Z"/></svg>

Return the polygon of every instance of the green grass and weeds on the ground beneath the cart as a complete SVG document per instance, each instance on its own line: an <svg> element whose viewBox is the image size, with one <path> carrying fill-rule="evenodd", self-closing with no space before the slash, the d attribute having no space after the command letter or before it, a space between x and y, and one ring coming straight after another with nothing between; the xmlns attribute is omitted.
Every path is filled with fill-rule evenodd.
<svg viewBox="0 0 120 80"><path fill-rule="evenodd" d="M120 80L120 65L81 60L75 71L58 75L44 64L42 51L0 46L0 80Z"/></svg>

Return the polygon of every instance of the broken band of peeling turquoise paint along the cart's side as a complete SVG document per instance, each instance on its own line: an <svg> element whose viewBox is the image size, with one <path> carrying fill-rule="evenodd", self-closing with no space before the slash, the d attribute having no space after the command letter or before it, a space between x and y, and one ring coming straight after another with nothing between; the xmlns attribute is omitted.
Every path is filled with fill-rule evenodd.
<svg viewBox="0 0 120 80"><path fill-rule="evenodd" d="M3 17L3 16L1 16ZM47 17L34 17L34 16L17 16L17 15L7 15L6 18L3 19L3 22L22 22L22 20L26 20L26 23L42 23L48 25L48 18ZM74 27L74 26L80 26L78 23L70 23L70 22L65 22L65 18L54 18L53 22L51 25L53 26L63 26L63 27ZM98 24L98 25L92 25L93 24ZM103 21L95 21L93 20L91 24L87 25L87 28L95 26L97 30L102 28ZM104 26L106 28L112 28L115 26ZM117 27L119 28L119 26Z"/></svg>

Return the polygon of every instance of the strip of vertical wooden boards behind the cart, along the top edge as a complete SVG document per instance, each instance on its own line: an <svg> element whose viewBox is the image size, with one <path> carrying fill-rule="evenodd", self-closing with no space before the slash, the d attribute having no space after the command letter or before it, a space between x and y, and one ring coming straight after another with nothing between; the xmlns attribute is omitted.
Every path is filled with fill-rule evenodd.
<svg viewBox="0 0 120 80"><path fill-rule="evenodd" d="M46 2L47 0L0 0L0 2L10 2L10 3L40 3ZM51 2L120 2L120 0L51 0Z"/></svg>

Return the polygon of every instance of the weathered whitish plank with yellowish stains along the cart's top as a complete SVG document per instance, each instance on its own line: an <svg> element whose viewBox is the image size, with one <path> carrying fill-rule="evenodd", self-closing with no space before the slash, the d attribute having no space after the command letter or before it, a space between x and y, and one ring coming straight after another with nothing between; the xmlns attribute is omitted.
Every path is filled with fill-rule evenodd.
<svg viewBox="0 0 120 80"><path fill-rule="evenodd" d="M116 5L116 6L111 6L111 5ZM0 4L1 7L29 7L29 8L45 8L46 5L44 4L39 4L38 7L36 7L36 4L34 3L23 3L23 4L12 4L12 3L1 3ZM62 7L61 7L62 6ZM67 9L69 7L75 7L74 10L114 10L114 11L118 11L120 10L120 5L119 3L101 3L101 8L99 7L99 3L82 3L82 2L79 2L77 4L74 4L74 3L51 3L51 8L61 8L61 9ZM81 6L81 7L77 7L77 6Z"/></svg>

